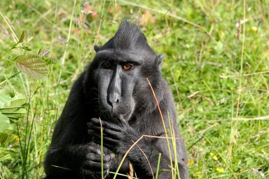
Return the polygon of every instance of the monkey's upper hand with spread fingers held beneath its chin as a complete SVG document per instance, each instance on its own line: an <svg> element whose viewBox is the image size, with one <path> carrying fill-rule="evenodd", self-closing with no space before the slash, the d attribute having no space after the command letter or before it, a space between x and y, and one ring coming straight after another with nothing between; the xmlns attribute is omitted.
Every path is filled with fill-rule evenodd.
<svg viewBox="0 0 269 179"><path fill-rule="evenodd" d="M124 154L139 139L139 134L125 121L120 120L121 125L102 120L103 146L112 151ZM90 119L87 123L88 133L96 144L101 144L100 120Z"/></svg>

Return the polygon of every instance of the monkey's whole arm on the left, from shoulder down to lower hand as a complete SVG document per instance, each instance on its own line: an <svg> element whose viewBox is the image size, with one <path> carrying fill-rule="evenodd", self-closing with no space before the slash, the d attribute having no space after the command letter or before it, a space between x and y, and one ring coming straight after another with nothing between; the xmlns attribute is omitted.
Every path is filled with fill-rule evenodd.
<svg viewBox="0 0 269 179"><path fill-rule="evenodd" d="M44 162L48 176L101 176L101 151L90 141L87 133L86 120L92 114L85 109L88 106L85 104L82 86L83 75L75 82L55 126L51 147ZM105 176L109 172L113 155L102 155Z"/></svg>

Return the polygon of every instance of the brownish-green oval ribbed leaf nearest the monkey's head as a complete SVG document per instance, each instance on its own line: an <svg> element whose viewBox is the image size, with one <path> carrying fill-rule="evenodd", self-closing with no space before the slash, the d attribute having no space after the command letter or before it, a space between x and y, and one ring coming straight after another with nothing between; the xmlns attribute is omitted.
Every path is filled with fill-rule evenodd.
<svg viewBox="0 0 269 179"><path fill-rule="evenodd" d="M17 68L34 79L43 79L49 69L41 57L37 55L21 55L15 60Z"/></svg>

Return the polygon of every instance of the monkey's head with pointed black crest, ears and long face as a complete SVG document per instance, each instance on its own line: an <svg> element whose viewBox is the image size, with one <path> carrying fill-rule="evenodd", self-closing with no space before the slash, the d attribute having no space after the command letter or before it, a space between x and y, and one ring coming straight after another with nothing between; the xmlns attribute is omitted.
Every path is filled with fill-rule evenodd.
<svg viewBox="0 0 269 179"><path fill-rule="evenodd" d="M163 54L157 55L139 28L124 20L103 46L94 46L98 102L112 116L128 120L143 98L142 84L160 75Z"/></svg>

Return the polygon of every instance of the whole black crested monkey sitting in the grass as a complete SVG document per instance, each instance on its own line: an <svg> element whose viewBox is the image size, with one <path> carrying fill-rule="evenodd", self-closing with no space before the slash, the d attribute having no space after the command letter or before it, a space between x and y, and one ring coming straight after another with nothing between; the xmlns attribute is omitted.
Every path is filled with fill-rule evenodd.
<svg viewBox="0 0 269 179"><path fill-rule="evenodd" d="M173 96L161 75L164 55L157 55L149 47L139 28L124 20L115 36L101 47L94 46L94 50L94 60L75 82L56 124L44 164L47 178L100 179L101 155L104 178L113 178L109 171L117 170L122 156L142 135L164 136L147 78L158 98L166 127L170 118L175 137L180 138ZM160 138L145 137L139 141L128 153L120 173L129 172L130 162L138 178L151 179L159 153L162 155L158 178L171 179L167 142ZM181 138L177 140L176 157L180 178L186 179L187 154ZM172 158L175 161L174 155ZM118 175L117 179L120 178Z"/></svg>

